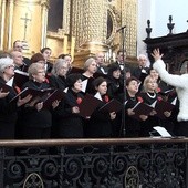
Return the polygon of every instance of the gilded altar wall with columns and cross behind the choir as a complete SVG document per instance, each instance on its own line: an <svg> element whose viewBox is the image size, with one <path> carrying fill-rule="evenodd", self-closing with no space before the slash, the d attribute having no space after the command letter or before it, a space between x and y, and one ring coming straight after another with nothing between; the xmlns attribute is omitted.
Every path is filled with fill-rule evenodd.
<svg viewBox="0 0 188 188"><path fill-rule="evenodd" d="M117 30L127 25L127 61L136 62L136 0L1 0L0 6L1 50L11 50L21 40L29 58L50 46L52 61L70 53L75 66L82 66L86 58L101 51L108 63L122 48L122 31Z"/></svg>

